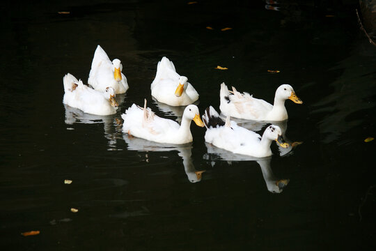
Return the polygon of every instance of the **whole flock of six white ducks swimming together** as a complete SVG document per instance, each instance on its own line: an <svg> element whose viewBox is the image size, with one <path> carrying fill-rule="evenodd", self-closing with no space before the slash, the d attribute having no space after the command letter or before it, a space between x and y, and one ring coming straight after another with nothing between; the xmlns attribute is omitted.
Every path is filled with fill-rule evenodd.
<svg viewBox="0 0 376 251"><path fill-rule="evenodd" d="M111 61L98 45L91 64L88 85L70 73L63 77L63 103L88 114L116 114L116 94L125 93L129 89L122 70L121 61ZM190 125L191 121L194 121L197 126L205 126L205 142L232 153L254 158L272 155L270 146L274 141L282 148L290 146L283 139L281 128L273 122L288 119L285 100L302 103L292 86L288 84L282 84L276 89L274 104L271 105L265 100L253 98L249 93L241 93L234 87L229 90L228 86L222 83L219 91L221 115L210 106L201 117L198 107L193 105L198 100L196 89L188 82L187 77L176 72L173 62L165 56L157 65L157 73L150 89L152 97L158 102L173 107L185 107L181 123L157 116L147 107L145 100L143 106L133 104L121 114L123 132L127 135L162 144L186 144L193 141ZM239 126L230 118L268 121L271 125L261 136Z"/></svg>

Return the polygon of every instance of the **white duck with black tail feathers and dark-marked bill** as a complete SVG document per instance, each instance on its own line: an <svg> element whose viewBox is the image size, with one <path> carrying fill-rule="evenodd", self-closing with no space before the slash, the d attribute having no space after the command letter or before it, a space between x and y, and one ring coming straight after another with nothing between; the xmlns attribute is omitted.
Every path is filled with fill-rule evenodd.
<svg viewBox="0 0 376 251"><path fill-rule="evenodd" d="M282 132L278 126L269 126L261 137L256 132L237 126L237 123L230 121L229 116L226 122L223 121L213 107L205 110L203 122L207 128L205 142L233 153L256 158L267 157L272 155L270 145L274 140L279 145L288 147L288 144L283 142Z"/></svg>

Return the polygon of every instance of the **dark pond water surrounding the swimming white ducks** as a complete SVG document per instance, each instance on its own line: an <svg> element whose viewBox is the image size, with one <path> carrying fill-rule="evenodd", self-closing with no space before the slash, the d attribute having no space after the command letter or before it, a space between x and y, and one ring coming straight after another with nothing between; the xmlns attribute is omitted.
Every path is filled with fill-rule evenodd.
<svg viewBox="0 0 376 251"><path fill-rule="evenodd" d="M374 250L375 141L363 140L376 136L376 47L357 3L187 2L1 3L1 250ZM63 75L86 82L97 45L130 84L114 116L62 103ZM201 113L219 109L221 82L269 102L291 84L304 104L286 102L285 136L303 144L256 161L193 124L179 147L123 135L116 119L144 98L178 119L150 96L162 56Z"/></svg>

